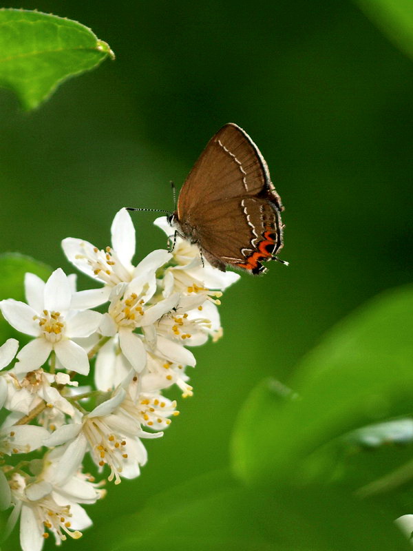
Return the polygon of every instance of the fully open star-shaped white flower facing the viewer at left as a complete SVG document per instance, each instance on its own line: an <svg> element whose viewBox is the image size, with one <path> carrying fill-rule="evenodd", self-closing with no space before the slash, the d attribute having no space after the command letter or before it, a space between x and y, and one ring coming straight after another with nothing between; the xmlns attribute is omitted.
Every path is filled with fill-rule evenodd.
<svg viewBox="0 0 413 551"><path fill-rule="evenodd" d="M70 309L72 286L62 269L57 269L44 283L33 273L25 275L28 304L8 299L0 302L6 320L21 333L35 337L17 354L16 373L27 373L45 363L52 350L59 362L70 371L89 373L87 353L71 340L94 333L102 315L94 311Z"/></svg>

